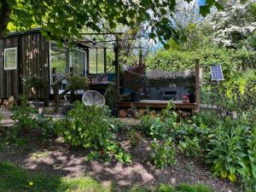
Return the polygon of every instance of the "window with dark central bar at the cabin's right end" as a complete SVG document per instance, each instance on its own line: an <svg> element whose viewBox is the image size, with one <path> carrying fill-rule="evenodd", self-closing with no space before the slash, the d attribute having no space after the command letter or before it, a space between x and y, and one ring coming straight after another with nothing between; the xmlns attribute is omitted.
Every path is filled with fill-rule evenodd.
<svg viewBox="0 0 256 192"><path fill-rule="evenodd" d="M104 49L89 50L89 73L104 73Z"/></svg>

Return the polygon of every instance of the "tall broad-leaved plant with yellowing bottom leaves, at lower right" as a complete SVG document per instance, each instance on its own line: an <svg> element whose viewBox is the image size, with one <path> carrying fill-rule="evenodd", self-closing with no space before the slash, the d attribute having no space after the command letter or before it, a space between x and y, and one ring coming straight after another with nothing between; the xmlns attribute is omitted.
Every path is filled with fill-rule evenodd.
<svg viewBox="0 0 256 192"><path fill-rule="evenodd" d="M247 126L239 125L235 120L227 118L209 139L206 162L212 166L214 177L227 177L236 182L237 176L247 169L243 159L245 153Z"/></svg>

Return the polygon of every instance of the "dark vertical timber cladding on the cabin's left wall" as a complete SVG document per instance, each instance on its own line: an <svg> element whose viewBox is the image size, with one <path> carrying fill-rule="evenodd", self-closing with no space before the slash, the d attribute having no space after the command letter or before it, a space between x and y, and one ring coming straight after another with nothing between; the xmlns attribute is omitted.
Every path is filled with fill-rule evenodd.
<svg viewBox="0 0 256 192"><path fill-rule="evenodd" d="M4 70L4 49L18 49L18 63L15 70ZM0 98L18 96L22 93L32 98L22 79L29 76L40 76L48 87L49 84L49 43L39 31L11 33L0 39ZM39 90L39 98L49 95L48 89Z"/></svg>

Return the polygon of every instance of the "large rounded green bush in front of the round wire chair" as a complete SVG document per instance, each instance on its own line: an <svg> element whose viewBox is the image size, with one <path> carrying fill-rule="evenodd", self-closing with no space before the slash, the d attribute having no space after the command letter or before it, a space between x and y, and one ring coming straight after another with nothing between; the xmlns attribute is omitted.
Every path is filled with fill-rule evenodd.
<svg viewBox="0 0 256 192"><path fill-rule="evenodd" d="M107 108L85 106L82 102L76 102L63 125L62 136L74 148L102 149L113 137Z"/></svg>

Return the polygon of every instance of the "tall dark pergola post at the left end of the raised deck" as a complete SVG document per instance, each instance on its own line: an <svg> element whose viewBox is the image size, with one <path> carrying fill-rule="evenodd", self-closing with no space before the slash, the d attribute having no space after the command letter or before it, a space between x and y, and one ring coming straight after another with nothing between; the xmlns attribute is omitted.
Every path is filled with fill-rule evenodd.
<svg viewBox="0 0 256 192"><path fill-rule="evenodd" d="M115 85L116 85L116 96L119 102L119 86L120 86L120 67L119 67L119 36L115 36L115 47L114 47L114 60L115 60Z"/></svg>

